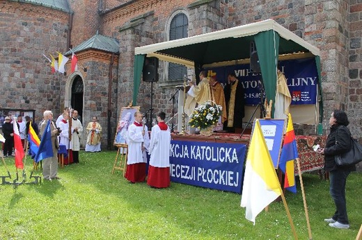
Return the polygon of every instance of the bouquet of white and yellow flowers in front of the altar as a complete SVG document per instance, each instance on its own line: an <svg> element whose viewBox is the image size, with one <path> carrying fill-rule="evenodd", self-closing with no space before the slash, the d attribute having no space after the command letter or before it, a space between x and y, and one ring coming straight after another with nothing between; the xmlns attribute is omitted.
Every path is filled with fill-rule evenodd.
<svg viewBox="0 0 362 240"><path fill-rule="evenodd" d="M221 111L221 105L217 105L213 101L206 101L192 112L189 126L200 129L214 126L221 116Z"/></svg>

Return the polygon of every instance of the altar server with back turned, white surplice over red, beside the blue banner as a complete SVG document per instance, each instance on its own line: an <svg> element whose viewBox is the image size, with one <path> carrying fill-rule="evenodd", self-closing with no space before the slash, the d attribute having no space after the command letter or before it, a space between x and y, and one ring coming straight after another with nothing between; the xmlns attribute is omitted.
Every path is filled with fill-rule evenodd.
<svg viewBox="0 0 362 240"><path fill-rule="evenodd" d="M157 188L170 186L171 131L164 122L165 117L164 112L159 112L158 124L153 126L151 131L147 184Z"/></svg>

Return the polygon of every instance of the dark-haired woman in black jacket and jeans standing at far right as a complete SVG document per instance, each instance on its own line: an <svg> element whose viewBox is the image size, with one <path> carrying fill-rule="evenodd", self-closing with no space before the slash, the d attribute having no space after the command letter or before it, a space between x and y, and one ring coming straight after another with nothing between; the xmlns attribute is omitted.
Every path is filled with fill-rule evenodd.
<svg viewBox="0 0 362 240"><path fill-rule="evenodd" d="M324 154L324 170L329 171L329 191L336 205L336 212L331 218L324 221L332 228L349 228L347 207L345 198L345 187L347 176L351 171L356 171L355 164L338 166L334 160L336 155L346 153L351 148L351 132L347 114L343 110L333 110L329 125L331 132L326 139L326 146L317 150Z"/></svg>

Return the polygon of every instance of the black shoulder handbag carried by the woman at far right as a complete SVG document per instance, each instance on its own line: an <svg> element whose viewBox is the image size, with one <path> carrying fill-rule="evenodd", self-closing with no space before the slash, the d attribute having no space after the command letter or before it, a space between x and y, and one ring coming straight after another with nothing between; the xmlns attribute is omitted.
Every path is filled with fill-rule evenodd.
<svg viewBox="0 0 362 240"><path fill-rule="evenodd" d="M336 144L337 144L337 134L336 134ZM362 146L352 136L351 136L351 148L349 149L349 151L334 156L334 162L336 162L338 166L353 165L361 161L362 161Z"/></svg>

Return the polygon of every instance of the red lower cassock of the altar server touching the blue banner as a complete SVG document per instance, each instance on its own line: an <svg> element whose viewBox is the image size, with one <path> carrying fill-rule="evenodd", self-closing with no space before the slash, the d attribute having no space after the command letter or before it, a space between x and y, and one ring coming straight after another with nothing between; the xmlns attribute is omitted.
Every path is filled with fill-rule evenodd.
<svg viewBox="0 0 362 240"><path fill-rule="evenodd" d="M151 187L170 187L170 167L148 167L147 184Z"/></svg>

